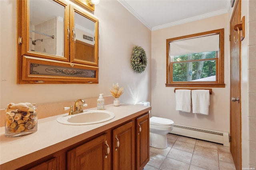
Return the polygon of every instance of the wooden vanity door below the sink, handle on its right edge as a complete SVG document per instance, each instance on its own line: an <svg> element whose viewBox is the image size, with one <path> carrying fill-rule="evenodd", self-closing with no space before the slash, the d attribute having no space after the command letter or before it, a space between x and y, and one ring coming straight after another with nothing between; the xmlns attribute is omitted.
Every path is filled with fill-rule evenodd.
<svg viewBox="0 0 256 170"><path fill-rule="evenodd" d="M108 170L109 152L104 134L68 151L67 170Z"/></svg>

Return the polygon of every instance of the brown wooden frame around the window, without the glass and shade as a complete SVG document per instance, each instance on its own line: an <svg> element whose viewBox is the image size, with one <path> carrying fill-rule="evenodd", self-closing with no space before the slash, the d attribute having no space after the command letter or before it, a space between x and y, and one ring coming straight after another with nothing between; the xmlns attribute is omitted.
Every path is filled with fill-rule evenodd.
<svg viewBox="0 0 256 170"><path fill-rule="evenodd" d="M218 34L219 38L219 56L216 58L216 81L189 81L189 82L173 82L172 81L172 63L170 58L170 42L199 38L202 36L209 36ZM186 36L180 36L176 38L166 39L166 87L217 87L223 88L224 84L224 28L206 32L200 32L196 34L190 34Z"/></svg>

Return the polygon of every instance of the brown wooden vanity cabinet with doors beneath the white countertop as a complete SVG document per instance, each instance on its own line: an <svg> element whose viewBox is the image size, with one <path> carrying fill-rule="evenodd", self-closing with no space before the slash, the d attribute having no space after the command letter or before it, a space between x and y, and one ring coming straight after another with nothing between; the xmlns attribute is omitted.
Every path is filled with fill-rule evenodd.
<svg viewBox="0 0 256 170"><path fill-rule="evenodd" d="M18 170L142 170L148 161L146 112Z"/></svg>

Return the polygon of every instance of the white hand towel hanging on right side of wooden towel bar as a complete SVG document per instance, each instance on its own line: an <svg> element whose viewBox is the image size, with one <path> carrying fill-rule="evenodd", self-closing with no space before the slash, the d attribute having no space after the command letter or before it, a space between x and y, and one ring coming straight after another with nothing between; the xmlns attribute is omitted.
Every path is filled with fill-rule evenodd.
<svg viewBox="0 0 256 170"><path fill-rule="evenodd" d="M192 110L193 113L209 114L210 92L209 90L192 90Z"/></svg>

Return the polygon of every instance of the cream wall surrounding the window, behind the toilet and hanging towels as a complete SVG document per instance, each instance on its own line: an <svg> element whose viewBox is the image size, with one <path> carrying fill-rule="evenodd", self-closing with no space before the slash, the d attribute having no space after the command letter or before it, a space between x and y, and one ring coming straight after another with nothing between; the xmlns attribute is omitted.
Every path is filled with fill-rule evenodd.
<svg viewBox="0 0 256 170"><path fill-rule="evenodd" d="M229 29L228 15L222 14L152 32L152 115L169 118L174 124L230 132ZM174 87L166 83L166 39L224 28L225 88L212 88L209 115L176 111Z"/></svg>

